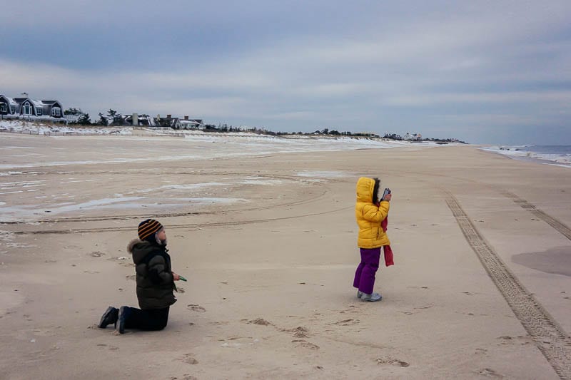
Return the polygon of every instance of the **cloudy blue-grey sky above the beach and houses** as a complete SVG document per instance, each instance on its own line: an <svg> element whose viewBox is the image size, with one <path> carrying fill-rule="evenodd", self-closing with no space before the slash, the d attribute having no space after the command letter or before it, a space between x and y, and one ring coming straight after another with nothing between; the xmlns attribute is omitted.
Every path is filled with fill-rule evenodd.
<svg viewBox="0 0 571 380"><path fill-rule="evenodd" d="M571 1L0 0L0 94L275 132L571 145Z"/></svg>

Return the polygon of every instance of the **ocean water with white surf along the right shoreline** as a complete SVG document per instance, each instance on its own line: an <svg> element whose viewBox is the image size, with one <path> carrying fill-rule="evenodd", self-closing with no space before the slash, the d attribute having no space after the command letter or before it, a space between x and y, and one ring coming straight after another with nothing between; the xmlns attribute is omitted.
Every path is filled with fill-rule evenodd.
<svg viewBox="0 0 571 380"><path fill-rule="evenodd" d="M522 160L571 168L571 145L496 145L482 148Z"/></svg>

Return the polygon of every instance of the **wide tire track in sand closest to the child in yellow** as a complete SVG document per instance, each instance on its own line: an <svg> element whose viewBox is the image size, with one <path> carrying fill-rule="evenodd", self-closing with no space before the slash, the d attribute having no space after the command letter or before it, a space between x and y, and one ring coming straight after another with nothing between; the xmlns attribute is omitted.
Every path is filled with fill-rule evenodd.
<svg viewBox="0 0 571 380"><path fill-rule="evenodd" d="M445 201L468 240L468 244L482 262L487 274L500 290L527 334L530 334L555 373L561 379L571 379L571 338L542 307L542 304L530 292L527 292L492 247L487 245L473 222L460 207L458 200L448 191L445 191ZM546 214L543 213L543 215Z"/></svg>

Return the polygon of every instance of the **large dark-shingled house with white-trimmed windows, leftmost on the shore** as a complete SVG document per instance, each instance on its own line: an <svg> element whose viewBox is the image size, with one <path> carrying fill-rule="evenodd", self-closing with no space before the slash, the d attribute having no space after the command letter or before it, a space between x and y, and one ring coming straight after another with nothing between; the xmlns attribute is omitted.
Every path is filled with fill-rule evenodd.
<svg viewBox="0 0 571 380"><path fill-rule="evenodd" d="M59 101L38 101L27 93L16 98L0 94L0 118L67 123Z"/></svg>

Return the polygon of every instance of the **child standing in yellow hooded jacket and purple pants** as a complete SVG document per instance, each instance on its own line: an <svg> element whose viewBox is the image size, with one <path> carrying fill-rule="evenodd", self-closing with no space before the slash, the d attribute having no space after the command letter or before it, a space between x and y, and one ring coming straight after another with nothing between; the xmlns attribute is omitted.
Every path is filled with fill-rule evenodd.
<svg viewBox="0 0 571 380"><path fill-rule="evenodd" d="M359 226L357 245L361 262L355 271L353 287L358 289L357 297L363 301L380 301L383 298L380 294L373 293L373 287L379 267L380 247L390 245L381 222L388 216L391 195L378 199L379 186L378 178L365 177L359 178L356 186L355 217Z"/></svg>

